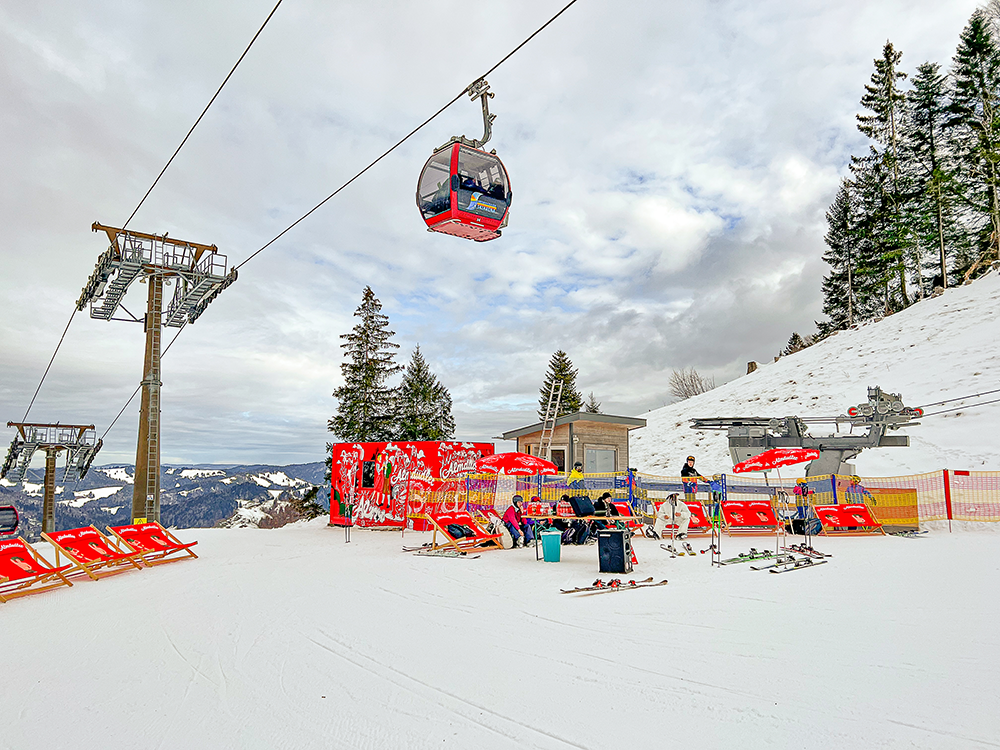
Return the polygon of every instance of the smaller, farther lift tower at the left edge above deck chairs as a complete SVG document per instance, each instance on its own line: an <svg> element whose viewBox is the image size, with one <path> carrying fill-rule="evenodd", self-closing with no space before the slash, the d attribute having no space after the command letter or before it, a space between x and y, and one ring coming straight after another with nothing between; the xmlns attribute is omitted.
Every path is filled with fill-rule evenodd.
<svg viewBox="0 0 1000 750"><path fill-rule="evenodd" d="M35 422L8 422L16 427L17 435L7 449L7 458L0 467L0 479L17 483L31 464L36 450L45 451L45 484L42 499L42 531L56 530L56 459L66 451L63 482L76 482L87 476L94 456L101 449L94 425L38 424Z"/></svg>

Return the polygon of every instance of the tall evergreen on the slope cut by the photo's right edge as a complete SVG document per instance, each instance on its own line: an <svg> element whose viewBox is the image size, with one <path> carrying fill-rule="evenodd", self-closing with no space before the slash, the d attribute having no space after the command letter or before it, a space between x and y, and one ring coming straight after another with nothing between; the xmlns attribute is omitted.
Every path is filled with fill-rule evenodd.
<svg viewBox="0 0 1000 750"><path fill-rule="evenodd" d="M976 252L988 256L1000 253L1000 47L983 11L969 19L952 63L947 126ZM962 265L971 262L955 271Z"/></svg>

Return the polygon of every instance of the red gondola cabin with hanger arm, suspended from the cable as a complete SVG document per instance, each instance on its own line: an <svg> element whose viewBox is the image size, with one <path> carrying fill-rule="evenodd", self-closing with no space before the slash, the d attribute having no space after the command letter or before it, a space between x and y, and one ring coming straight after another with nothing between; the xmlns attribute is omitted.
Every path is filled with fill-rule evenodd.
<svg viewBox="0 0 1000 750"><path fill-rule="evenodd" d="M483 137L452 136L431 154L417 181L417 208L427 231L476 242L494 240L507 226L510 178L496 149L487 152L496 115L490 114L490 85L480 78L467 89L483 105Z"/></svg>

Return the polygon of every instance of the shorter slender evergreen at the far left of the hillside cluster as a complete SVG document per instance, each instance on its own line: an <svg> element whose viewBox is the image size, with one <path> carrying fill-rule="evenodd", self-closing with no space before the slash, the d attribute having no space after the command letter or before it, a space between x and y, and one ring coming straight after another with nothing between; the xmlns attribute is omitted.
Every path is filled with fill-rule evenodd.
<svg viewBox="0 0 1000 750"><path fill-rule="evenodd" d="M826 212L827 232L823 239L828 249L823 253L823 260L832 270L823 277L823 313L829 318L819 325L823 334L849 328L856 317L854 284L861 234L851 198L852 187L848 178L841 180L840 190Z"/></svg>

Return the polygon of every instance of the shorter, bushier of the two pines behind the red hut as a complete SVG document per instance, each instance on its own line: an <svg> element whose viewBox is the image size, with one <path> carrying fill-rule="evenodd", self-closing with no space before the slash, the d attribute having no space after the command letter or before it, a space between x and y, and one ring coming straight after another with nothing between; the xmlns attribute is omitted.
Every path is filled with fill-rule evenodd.
<svg viewBox="0 0 1000 750"><path fill-rule="evenodd" d="M427 366L420 346L396 391L398 440L450 440L455 434L451 394Z"/></svg>

